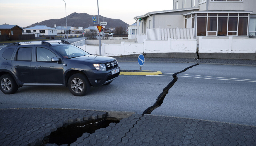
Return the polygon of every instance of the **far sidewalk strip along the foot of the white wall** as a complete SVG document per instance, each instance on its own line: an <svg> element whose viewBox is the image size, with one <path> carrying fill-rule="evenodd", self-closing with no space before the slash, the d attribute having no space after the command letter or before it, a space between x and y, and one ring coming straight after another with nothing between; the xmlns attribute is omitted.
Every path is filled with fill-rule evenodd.
<svg viewBox="0 0 256 146"><path fill-rule="evenodd" d="M112 56L115 57L115 56ZM138 62L136 57L115 57L118 62ZM256 66L256 60L245 59L196 59L196 58L161 58L145 57L145 62L201 63L220 65Z"/></svg>

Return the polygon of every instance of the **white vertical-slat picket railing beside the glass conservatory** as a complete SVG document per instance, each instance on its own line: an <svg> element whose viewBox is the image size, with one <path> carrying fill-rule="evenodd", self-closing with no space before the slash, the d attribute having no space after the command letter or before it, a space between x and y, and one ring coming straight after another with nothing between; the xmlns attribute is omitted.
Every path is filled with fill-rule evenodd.
<svg viewBox="0 0 256 146"><path fill-rule="evenodd" d="M147 29L147 40L194 39L194 28Z"/></svg>

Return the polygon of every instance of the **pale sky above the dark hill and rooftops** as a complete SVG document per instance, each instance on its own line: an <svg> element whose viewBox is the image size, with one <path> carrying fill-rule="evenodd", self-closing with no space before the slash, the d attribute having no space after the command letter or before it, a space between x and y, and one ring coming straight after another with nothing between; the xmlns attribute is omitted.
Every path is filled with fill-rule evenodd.
<svg viewBox="0 0 256 146"><path fill-rule="evenodd" d="M65 0L65 2L67 16L74 12L98 14L97 0ZM62 0L0 0L0 6L0 25L6 23L26 27L36 22L66 16L65 3ZM121 19L129 25L135 22L133 18L136 16L172 8L173 0L99 0L100 15Z"/></svg>

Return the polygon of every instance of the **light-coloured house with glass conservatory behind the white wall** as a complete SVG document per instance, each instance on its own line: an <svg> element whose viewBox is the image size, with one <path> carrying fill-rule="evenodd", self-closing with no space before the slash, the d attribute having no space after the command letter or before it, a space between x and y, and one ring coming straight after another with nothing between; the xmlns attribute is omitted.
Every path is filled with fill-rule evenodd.
<svg viewBox="0 0 256 146"><path fill-rule="evenodd" d="M199 36L256 36L256 0L173 0L173 9L134 17L147 29L194 28Z"/></svg>

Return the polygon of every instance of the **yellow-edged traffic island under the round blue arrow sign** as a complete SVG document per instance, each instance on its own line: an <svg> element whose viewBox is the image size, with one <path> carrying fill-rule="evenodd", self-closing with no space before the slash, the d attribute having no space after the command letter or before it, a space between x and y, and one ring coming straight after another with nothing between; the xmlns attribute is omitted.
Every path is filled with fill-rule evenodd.
<svg viewBox="0 0 256 146"><path fill-rule="evenodd" d="M147 71L147 70L122 70L120 75L160 75L161 71Z"/></svg>

